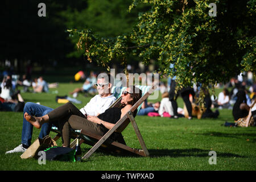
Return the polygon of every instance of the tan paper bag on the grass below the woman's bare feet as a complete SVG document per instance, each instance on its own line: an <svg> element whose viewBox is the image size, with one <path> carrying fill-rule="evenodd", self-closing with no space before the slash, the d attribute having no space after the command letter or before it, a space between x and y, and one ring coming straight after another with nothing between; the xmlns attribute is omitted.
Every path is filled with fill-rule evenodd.
<svg viewBox="0 0 256 182"><path fill-rule="evenodd" d="M20 155L20 158L22 159L30 159L30 158L39 158L38 152L43 151L46 148L57 146L57 143L55 140L53 140L49 135L44 137L43 139L37 138L34 143L31 144L30 147L27 148L26 151L22 155Z"/></svg>

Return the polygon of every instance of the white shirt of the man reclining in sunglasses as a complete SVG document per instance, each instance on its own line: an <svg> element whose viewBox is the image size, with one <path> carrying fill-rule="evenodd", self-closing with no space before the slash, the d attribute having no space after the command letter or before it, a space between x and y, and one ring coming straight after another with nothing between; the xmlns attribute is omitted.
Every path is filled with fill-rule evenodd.
<svg viewBox="0 0 256 182"><path fill-rule="evenodd" d="M109 109L109 107L114 103L116 98L114 95L110 95L108 97L101 97L99 94L94 96L88 104L80 109L82 114L88 115L97 115L98 113L104 113L105 110Z"/></svg>

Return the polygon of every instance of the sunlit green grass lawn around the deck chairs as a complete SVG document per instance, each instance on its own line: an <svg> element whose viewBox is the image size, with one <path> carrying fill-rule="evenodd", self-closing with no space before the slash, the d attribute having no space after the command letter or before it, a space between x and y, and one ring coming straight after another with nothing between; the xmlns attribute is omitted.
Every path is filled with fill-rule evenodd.
<svg viewBox="0 0 256 182"><path fill-rule="evenodd" d="M58 94L22 93L26 102L40 102L52 108L61 104L55 102L55 96L64 96L82 84L60 84ZM219 91L219 90L218 90ZM82 104L90 100L77 97ZM160 96L159 99L160 100ZM179 98L178 106L183 107ZM88 160L81 163L46 162L39 165L36 159L21 159L20 154L8 154L20 144L23 113L1 112L0 117L0 170L255 170L256 169L256 129L255 127L224 127L225 121L233 122L232 110L220 110L218 119L150 118L137 116L138 127L150 156L120 156L97 150ZM32 142L40 130L34 128ZM55 133L50 133L54 137ZM128 146L140 148L133 127L129 125L123 136ZM61 141L57 141L61 146ZM82 154L90 149L81 145ZM209 164L209 152L217 154L217 164Z"/></svg>

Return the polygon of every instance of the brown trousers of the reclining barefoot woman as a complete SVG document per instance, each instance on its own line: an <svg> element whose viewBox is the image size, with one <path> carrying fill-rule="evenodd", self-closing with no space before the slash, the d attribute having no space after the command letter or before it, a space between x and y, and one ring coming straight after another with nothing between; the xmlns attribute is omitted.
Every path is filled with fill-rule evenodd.
<svg viewBox="0 0 256 182"><path fill-rule="evenodd" d="M48 113L49 122L58 122L61 130L61 139L63 146L69 147L70 145L70 129L90 131L96 135L103 136L105 133L101 125L93 123L85 119L84 114L71 102L57 107Z"/></svg>

